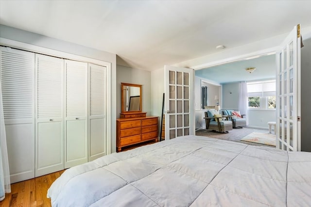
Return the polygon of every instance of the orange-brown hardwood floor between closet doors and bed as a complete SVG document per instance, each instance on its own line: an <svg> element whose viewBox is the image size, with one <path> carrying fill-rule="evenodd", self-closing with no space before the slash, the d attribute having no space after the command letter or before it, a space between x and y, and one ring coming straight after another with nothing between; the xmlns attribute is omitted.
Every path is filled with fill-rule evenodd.
<svg viewBox="0 0 311 207"><path fill-rule="evenodd" d="M0 207L51 207L48 189L64 171L11 184L11 193L5 194Z"/></svg>

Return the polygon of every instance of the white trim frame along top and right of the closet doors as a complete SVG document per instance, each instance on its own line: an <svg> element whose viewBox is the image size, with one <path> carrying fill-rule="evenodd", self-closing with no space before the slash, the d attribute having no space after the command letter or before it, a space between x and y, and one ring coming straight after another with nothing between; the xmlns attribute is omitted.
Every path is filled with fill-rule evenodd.
<svg viewBox="0 0 311 207"><path fill-rule="evenodd" d="M74 55L74 54L70 54L67 52L62 52L62 51L58 51L58 50L54 50L54 49L49 49L49 48L43 48L40 46L35 46L35 45L31 45L28 43L22 43L22 42L18 42L15 40L10 40L10 39L6 39L6 38L2 38L0 37L0 45L1 46L5 46L5 47L12 47L12 48L17 48L17 49L22 49L22 50L27 50L30 52L35 52L35 53L40 53L40 54L44 54L44 55L50 55L50 56L55 56L55 57L59 57L59 58L64 58L64 59L70 59L70 60L75 60L75 61L83 61L83 62L87 62L87 63L91 63L91 64L98 64L98 65L102 65L105 66L107 68L107 82L106 82L106 87L107 87L107 98L106 98L106 108L107 109L111 109L111 63L109 62L105 62L105 61L101 61L101 60L96 60L93 58L87 58L84 56L80 56L80 55ZM107 110L106 111L106 136L107 136L107 141L106 141L106 154L109 155L111 154L111 110Z"/></svg>

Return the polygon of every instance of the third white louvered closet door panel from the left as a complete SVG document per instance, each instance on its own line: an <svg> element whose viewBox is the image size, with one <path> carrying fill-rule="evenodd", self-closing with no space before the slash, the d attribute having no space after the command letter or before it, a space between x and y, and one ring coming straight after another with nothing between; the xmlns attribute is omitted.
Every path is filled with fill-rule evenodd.
<svg viewBox="0 0 311 207"><path fill-rule="evenodd" d="M87 63L65 60L65 168L87 162Z"/></svg>

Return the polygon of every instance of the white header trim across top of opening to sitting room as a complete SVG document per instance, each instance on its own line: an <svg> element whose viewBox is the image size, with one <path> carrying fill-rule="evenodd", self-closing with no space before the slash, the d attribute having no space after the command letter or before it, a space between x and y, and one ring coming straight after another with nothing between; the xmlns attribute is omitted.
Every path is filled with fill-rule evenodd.
<svg viewBox="0 0 311 207"><path fill-rule="evenodd" d="M227 63L236 62L236 61L243 61L243 60L249 60L249 59L253 59L253 58L259 58L262 56L275 54L276 51L278 50L278 48L279 47L262 49L259 51L255 51L255 52L251 52L251 53L247 53L247 54L243 54L243 55L238 55L238 56L234 56L234 57L230 57L230 58L225 58L225 59L210 62L210 63L191 66L191 68L193 68L194 70L200 70L200 69L205 69L208 67L213 67L213 66L217 66L217 65L221 65L221 64L227 64Z"/></svg>

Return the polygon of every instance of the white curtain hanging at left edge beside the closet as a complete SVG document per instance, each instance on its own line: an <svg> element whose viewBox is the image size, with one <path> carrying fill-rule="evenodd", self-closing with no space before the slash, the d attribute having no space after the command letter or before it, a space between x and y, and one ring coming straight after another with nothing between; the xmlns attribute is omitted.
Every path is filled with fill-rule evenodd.
<svg viewBox="0 0 311 207"><path fill-rule="evenodd" d="M8 151L6 148L2 92L0 90L0 201L11 192Z"/></svg>

